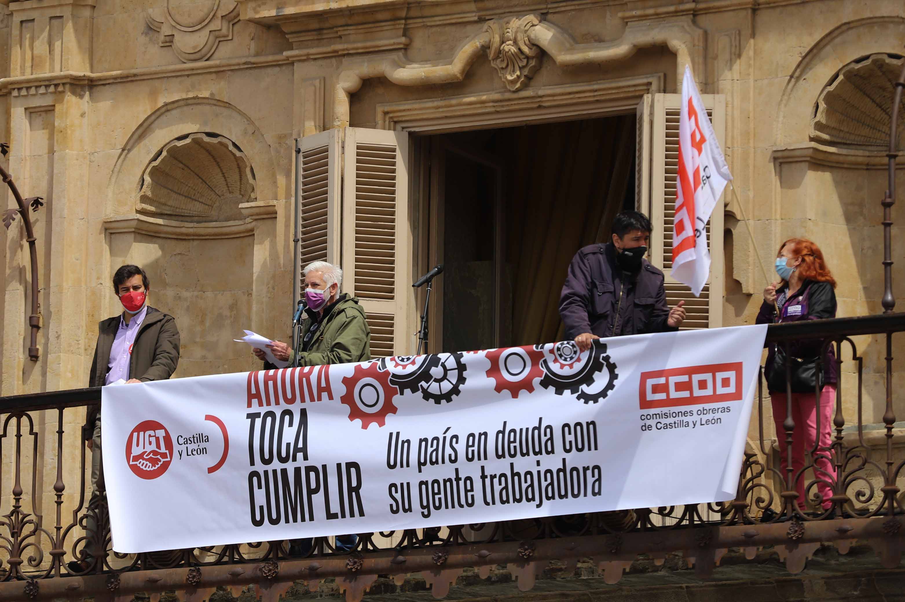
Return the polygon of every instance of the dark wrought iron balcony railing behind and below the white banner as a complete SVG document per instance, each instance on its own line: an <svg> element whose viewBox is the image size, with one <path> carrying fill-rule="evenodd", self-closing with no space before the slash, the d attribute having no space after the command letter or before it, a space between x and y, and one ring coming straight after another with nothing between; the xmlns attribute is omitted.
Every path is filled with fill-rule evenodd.
<svg viewBox="0 0 905 602"><path fill-rule="evenodd" d="M706 576L729 548L753 558L772 545L797 572L822 542L844 553L855 540L869 542L884 566L897 566L905 549L905 423L896 422L896 408L905 397L893 387L892 335L902 330L905 313L769 327L767 342L782 347L804 339L834 347L833 435L831 444L806 450L803 465L780 469L801 425L787 394L783 430L771 435L776 405L762 387L750 429L758 436L749 439L732 501L360 533L349 551L339 551L333 538L318 538L310 549L284 540L117 554L105 496L86 486L90 452L81 440L84 408L100 403L100 389L0 397L0 598L148 592L156 600L177 590L201 600L217 586L235 592L255 584L265 599L276 600L297 580L316 588L320 579L336 578L356 600L377 575L415 572L442 597L466 567L486 576L491 565L508 564L519 588L528 589L553 559L565 561L568 572L578 559L592 558L616 582L639 554L663 559L680 551ZM872 423L871 412L879 409L881 421ZM830 468L814 476L815 463ZM808 498L804 510L799 480ZM820 502L827 500L832 505L824 510ZM215 500L199 502L216 511Z"/></svg>

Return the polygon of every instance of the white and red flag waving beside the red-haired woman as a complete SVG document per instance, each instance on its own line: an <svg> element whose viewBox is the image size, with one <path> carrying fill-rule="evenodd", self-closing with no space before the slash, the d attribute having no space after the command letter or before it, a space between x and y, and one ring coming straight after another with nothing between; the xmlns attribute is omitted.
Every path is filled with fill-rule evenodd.
<svg viewBox="0 0 905 602"><path fill-rule="evenodd" d="M672 277L690 286L696 297L700 296L710 273L710 252L704 227L731 179L698 86L691 76L691 69L686 66L681 84Z"/></svg>

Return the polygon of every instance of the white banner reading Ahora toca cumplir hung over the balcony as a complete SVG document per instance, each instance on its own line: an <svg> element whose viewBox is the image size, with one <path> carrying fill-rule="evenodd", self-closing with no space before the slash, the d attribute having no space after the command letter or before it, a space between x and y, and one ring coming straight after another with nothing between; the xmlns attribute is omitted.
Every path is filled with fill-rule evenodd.
<svg viewBox="0 0 905 602"><path fill-rule="evenodd" d="M104 387L113 548L727 501L766 332Z"/></svg>

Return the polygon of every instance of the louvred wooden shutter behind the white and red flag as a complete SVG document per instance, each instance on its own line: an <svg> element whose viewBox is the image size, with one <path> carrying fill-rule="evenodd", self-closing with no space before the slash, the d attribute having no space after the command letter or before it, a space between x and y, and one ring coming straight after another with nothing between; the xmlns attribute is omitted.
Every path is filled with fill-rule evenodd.
<svg viewBox="0 0 905 602"><path fill-rule="evenodd" d="M726 97L701 94L710 122L720 144L726 139ZM722 326L723 304L723 213L720 200L707 224L710 247L710 278L700 297L672 278L672 216L676 205L676 176L679 169L679 111L681 94L653 94L653 145L651 153L651 262L666 273L666 298L670 307L685 301L687 311L682 328Z"/></svg>

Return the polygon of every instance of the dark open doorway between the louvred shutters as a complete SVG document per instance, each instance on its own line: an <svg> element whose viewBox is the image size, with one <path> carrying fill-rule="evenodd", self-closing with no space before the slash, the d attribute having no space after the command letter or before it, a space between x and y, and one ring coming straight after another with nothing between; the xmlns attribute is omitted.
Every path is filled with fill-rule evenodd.
<svg viewBox="0 0 905 602"><path fill-rule="evenodd" d="M424 137L430 263L443 263L431 352L561 339L559 291L578 249L635 204L635 117Z"/></svg>

